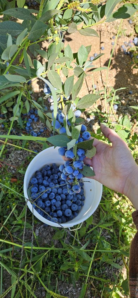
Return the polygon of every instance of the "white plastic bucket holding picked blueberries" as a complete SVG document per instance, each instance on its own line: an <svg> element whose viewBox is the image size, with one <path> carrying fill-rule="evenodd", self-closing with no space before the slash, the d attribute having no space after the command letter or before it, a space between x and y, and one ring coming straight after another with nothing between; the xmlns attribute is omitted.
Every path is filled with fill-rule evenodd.
<svg viewBox="0 0 138 298"><path fill-rule="evenodd" d="M33 174L36 172L36 170L40 170L42 167L44 167L47 164L56 163L57 165L64 164L64 161L62 159L62 156L58 153L58 148L56 147L50 147L43 151L41 151L39 154L37 154L32 161L30 162L29 166L27 167L25 176L24 176L24 197L25 200L28 199L27 195L27 189L29 185L29 181ZM85 201L84 206L79 211L79 214L73 218L71 221L67 223L63 223L62 226L65 228L72 227L74 225L80 224L83 221L85 221L87 218L89 218L93 212L98 207L101 197L102 197L102 184L89 178L83 178L84 182L84 195L85 195ZM32 204L28 201L27 205L32 212ZM56 226L61 227L58 223L54 223L51 221L48 221L45 219L42 215L40 215L38 212L36 212L35 209L33 209L33 214L38 218L40 221L42 221L45 224L48 224L50 226Z"/></svg>

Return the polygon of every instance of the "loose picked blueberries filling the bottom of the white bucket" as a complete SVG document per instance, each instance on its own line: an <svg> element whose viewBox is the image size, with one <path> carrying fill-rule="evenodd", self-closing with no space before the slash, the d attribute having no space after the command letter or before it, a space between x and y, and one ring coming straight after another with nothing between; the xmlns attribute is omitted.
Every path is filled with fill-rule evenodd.
<svg viewBox="0 0 138 298"><path fill-rule="evenodd" d="M85 201L83 182L80 182L79 194L68 193L70 184L63 182L61 178L63 168L64 165L58 167L55 163L51 166L46 165L36 171L29 184L30 199L33 201L36 211L47 220L59 224L76 217Z"/></svg>

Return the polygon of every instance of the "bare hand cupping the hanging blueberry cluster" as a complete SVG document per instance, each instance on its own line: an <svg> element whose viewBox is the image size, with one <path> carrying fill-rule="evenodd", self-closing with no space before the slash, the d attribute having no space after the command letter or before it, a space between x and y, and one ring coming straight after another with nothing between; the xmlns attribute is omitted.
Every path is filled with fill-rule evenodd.
<svg viewBox="0 0 138 298"><path fill-rule="evenodd" d="M126 195L138 209L136 181L138 166L128 148L128 145L107 126L101 124L101 131L112 143L112 146L94 139L96 154L92 158L85 158L84 163L93 167L95 179L105 186ZM64 159L66 159L64 157ZM134 193L135 189L135 193ZM135 200L135 201L134 201Z"/></svg>

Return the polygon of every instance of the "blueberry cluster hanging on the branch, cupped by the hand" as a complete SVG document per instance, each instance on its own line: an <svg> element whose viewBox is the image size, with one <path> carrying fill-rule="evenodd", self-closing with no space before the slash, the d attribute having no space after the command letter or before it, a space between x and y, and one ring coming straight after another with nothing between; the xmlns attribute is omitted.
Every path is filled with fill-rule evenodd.
<svg viewBox="0 0 138 298"><path fill-rule="evenodd" d="M78 142L84 142L90 139L90 133L87 131L87 128L84 124L82 124L81 127L81 134L79 135L78 140L76 141L76 144ZM80 181L83 177L81 170L83 169L84 159L85 159L85 150L79 148L77 150L76 156L73 153L73 148L70 150L67 150L67 147L60 147L58 149L58 152L62 156L66 156L69 159L72 159L72 161L66 161L64 163L64 166L60 168L62 171L61 178L69 184L68 186L68 193L74 194L74 193L80 193L81 191L81 185Z"/></svg>

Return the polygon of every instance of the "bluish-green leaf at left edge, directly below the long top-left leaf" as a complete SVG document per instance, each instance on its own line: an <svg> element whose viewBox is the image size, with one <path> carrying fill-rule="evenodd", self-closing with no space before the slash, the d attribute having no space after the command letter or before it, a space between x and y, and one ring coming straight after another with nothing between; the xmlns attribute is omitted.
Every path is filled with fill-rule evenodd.
<svg viewBox="0 0 138 298"><path fill-rule="evenodd" d="M24 28L16 22L4 21L0 23L0 35L6 35L8 33L11 36L17 36L23 30Z"/></svg>

